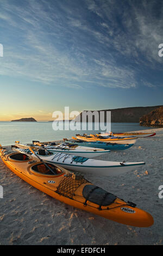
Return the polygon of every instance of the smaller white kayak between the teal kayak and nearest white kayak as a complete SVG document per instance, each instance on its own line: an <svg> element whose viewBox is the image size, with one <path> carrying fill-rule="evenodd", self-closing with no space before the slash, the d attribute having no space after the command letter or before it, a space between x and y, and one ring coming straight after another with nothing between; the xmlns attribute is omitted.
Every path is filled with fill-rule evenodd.
<svg viewBox="0 0 163 256"><path fill-rule="evenodd" d="M42 148L39 145L35 144L23 144L18 141L15 142L16 147L21 149L29 149L31 148ZM52 151L53 153L66 153L69 155L75 155L75 156L83 156L83 157L96 157L101 156L106 153L110 153L109 149L99 149L99 148L90 148L90 147L83 147L78 145L67 145L67 144L59 144L59 145L43 145L44 148L48 149L49 151Z"/></svg>

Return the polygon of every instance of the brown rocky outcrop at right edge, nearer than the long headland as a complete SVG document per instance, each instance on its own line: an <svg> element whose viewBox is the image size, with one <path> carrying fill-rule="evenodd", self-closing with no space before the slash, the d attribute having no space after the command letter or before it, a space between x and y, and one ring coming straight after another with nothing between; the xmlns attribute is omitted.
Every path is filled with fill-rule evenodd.
<svg viewBox="0 0 163 256"><path fill-rule="evenodd" d="M163 107L159 107L140 118L141 126L163 127Z"/></svg>

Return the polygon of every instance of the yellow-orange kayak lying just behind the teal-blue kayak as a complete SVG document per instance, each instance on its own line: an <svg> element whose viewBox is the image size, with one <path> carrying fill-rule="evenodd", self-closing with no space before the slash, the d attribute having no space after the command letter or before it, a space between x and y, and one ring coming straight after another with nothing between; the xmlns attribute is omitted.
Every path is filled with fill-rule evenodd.
<svg viewBox="0 0 163 256"><path fill-rule="evenodd" d="M77 139L87 142L111 142L117 144L134 144L137 137L115 137L115 136L97 136L97 135L76 135Z"/></svg>

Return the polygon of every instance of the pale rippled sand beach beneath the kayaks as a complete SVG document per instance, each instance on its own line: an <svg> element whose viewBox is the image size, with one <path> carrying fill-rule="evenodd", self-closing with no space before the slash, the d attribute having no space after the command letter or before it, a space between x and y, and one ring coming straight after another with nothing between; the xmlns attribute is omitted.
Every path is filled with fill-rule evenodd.
<svg viewBox="0 0 163 256"><path fill-rule="evenodd" d="M145 166L113 178L85 178L148 211L154 218L152 227L130 227L61 203L18 178L0 160L0 245L163 245L163 198L158 196L163 185L163 128L150 131L156 136L97 157L145 161Z"/></svg>

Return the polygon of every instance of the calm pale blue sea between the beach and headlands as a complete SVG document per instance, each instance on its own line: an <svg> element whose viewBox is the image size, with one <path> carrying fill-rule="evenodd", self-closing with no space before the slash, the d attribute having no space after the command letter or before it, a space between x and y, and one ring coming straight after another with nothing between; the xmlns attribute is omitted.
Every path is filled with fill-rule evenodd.
<svg viewBox="0 0 163 256"><path fill-rule="evenodd" d="M102 130L93 131L76 130L54 131L52 128L53 122L4 122L0 121L0 143L2 145L13 145L15 141L22 143L32 143L35 141L55 141L62 138L71 138L78 134L95 133ZM113 132L128 132L147 130L151 127L139 126L139 123L111 123L111 131ZM103 131L102 131L103 132Z"/></svg>

